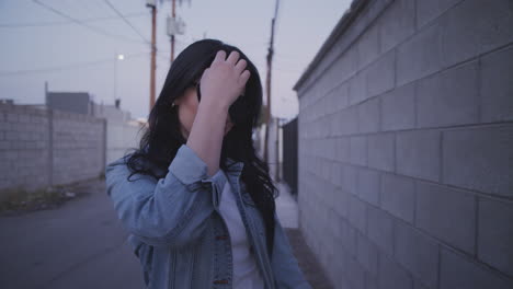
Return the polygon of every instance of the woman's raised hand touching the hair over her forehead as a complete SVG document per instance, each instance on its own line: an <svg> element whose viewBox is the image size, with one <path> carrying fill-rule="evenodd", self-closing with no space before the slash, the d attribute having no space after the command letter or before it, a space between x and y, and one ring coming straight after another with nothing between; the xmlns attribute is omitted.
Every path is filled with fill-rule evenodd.
<svg viewBox="0 0 513 289"><path fill-rule="evenodd" d="M201 79L202 103L221 105L226 109L242 93L250 72L244 70L247 61L240 59L238 51L219 50L210 67L205 69Z"/></svg>

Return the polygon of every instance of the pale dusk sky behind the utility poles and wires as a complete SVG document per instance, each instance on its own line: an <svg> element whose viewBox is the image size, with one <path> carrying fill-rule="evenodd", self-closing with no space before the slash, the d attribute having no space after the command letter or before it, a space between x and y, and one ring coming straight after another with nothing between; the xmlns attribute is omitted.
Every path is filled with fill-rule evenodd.
<svg viewBox="0 0 513 289"><path fill-rule="evenodd" d="M84 91L96 103L113 104L116 86L122 108L133 117L147 117L150 49L145 41L151 36L151 15L146 0L109 1L135 30L105 0L38 0L42 4L33 0L0 0L0 99L42 104L44 83L48 81L50 91ZM351 0L280 2L272 79L274 116L297 115L298 101L292 88L350 3ZM182 5L176 0L176 14L186 27L184 35L175 37L175 57L204 35L217 38L244 51L256 65L265 85L274 7L275 0L191 0L191 5L187 0ZM159 3L157 96L170 63L170 39L164 26L170 13L169 1ZM125 55L117 66L116 54Z"/></svg>

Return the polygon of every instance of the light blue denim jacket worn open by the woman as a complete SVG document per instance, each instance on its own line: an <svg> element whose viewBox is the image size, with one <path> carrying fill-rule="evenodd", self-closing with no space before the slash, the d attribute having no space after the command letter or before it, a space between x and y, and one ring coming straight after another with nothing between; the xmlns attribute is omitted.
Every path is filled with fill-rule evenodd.
<svg viewBox="0 0 513 289"><path fill-rule="evenodd" d="M265 246L260 211L240 182L242 162L233 170L207 175L207 164L182 144L163 178L135 174L121 158L106 166L106 193L139 258L150 289L232 288L228 227L219 213L229 182L266 289L311 288L305 280L288 239L275 215L273 256Z"/></svg>

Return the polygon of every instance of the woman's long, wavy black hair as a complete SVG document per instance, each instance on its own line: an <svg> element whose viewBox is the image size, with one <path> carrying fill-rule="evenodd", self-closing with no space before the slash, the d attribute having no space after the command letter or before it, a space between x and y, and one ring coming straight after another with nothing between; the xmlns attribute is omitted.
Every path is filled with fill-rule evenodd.
<svg viewBox="0 0 513 289"><path fill-rule="evenodd" d="M140 139L139 148L128 157L127 165L132 171L128 178L136 174L151 175L159 180L166 174L171 161L176 155L179 148L186 142L180 131L180 122L176 106L172 107L174 100L184 94L185 90L201 79L203 71L208 68L218 50L225 50L228 56L236 50L240 59L247 61L247 70L251 76L246 83L243 95L246 123L236 124L223 140L219 166L225 172L229 171L226 160L230 158L236 162L243 162L241 180L251 195L258 210L261 212L265 224L266 244L272 255L274 240L274 213L278 190L274 186L269 165L260 160L255 153L252 134L256 127L262 106L262 84L255 66L237 47L227 45L217 39L202 39L187 46L173 61L166 78L162 91L149 114L148 124ZM240 96L242 97L242 96ZM151 165L145 165L150 163ZM153 166L153 167L152 167ZM129 181L129 180L128 180Z"/></svg>

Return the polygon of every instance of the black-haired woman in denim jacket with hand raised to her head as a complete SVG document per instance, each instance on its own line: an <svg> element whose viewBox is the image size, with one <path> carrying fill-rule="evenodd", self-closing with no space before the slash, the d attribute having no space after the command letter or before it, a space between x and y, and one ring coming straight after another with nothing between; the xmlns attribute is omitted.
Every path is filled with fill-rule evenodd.
<svg viewBox="0 0 513 289"><path fill-rule="evenodd" d="M248 57L198 41L172 63L139 149L107 165L148 288L310 288L253 147L261 106Z"/></svg>

